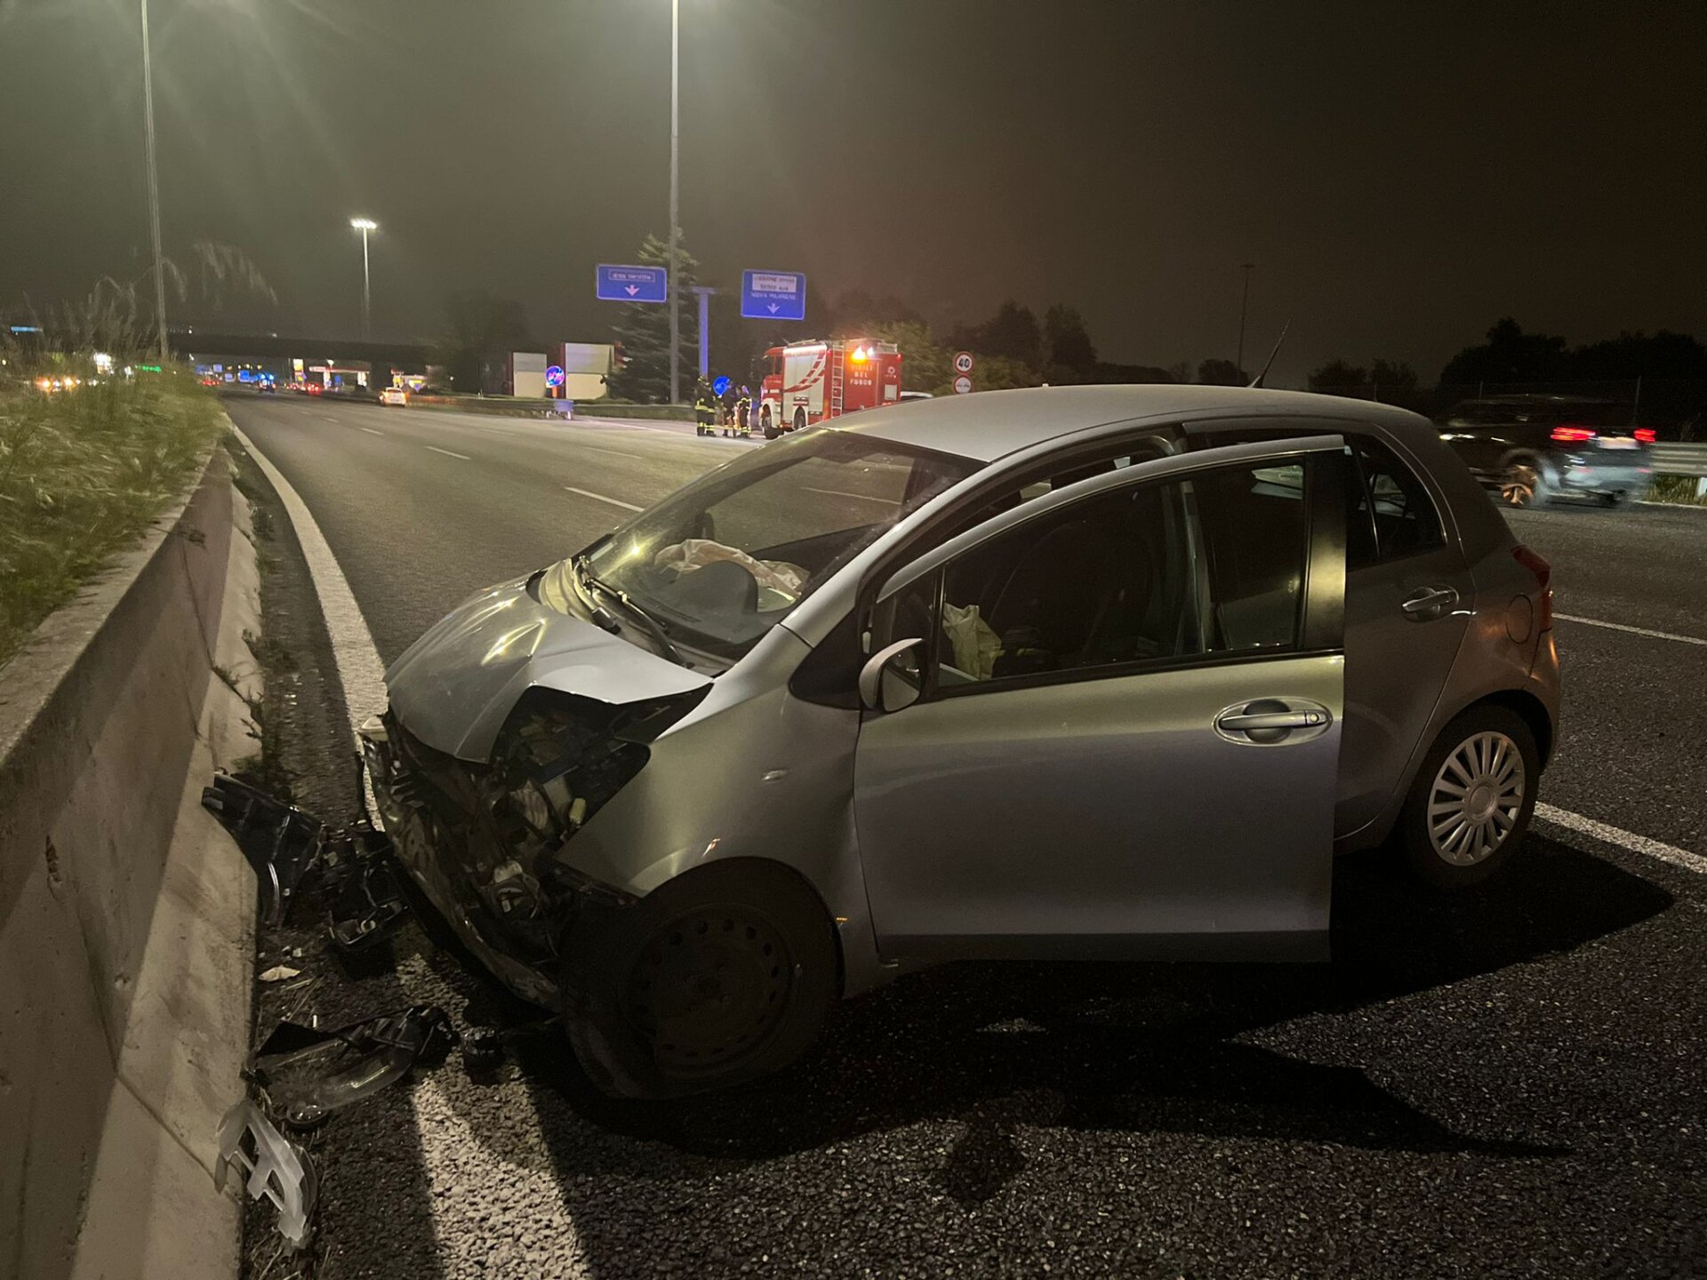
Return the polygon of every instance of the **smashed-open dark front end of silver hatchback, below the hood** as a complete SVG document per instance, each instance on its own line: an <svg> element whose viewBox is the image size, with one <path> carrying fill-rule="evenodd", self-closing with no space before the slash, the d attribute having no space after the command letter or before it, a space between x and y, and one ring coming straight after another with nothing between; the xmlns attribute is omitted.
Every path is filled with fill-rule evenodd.
<svg viewBox="0 0 1707 1280"><path fill-rule="evenodd" d="M565 932L586 910L630 901L558 855L703 695L613 707L531 688L486 763L427 746L394 710L362 725L398 864L475 959L522 998L558 1009Z"/></svg>

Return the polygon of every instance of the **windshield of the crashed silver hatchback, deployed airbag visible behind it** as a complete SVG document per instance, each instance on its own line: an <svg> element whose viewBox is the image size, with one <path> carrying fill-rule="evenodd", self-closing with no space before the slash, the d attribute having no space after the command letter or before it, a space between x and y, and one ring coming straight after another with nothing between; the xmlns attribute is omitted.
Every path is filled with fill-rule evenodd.
<svg viewBox="0 0 1707 1280"><path fill-rule="evenodd" d="M587 556L671 640L739 657L842 565L980 463L854 432L768 444L640 512ZM568 561L553 577L567 579Z"/></svg>

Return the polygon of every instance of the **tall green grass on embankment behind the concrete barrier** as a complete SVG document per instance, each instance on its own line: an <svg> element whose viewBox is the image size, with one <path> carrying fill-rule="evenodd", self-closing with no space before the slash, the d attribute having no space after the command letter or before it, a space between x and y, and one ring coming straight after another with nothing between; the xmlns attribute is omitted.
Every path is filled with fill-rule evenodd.
<svg viewBox="0 0 1707 1280"><path fill-rule="evenodd" d="M222 425L188 372L0 382L0 666L183 497Z"/></svg>

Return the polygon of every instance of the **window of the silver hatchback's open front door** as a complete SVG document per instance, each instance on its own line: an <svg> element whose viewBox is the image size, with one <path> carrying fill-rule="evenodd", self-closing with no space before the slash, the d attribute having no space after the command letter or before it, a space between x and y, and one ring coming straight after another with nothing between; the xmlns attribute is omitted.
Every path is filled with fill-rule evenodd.
<svg viewBox="0 0 1707 1280"><path fill-rule="evenodd" d="M1028 521L889 601L935 691L1297 645L1302 461L1113 490ZM912 672L908 672L912 674Z"/></svg>

